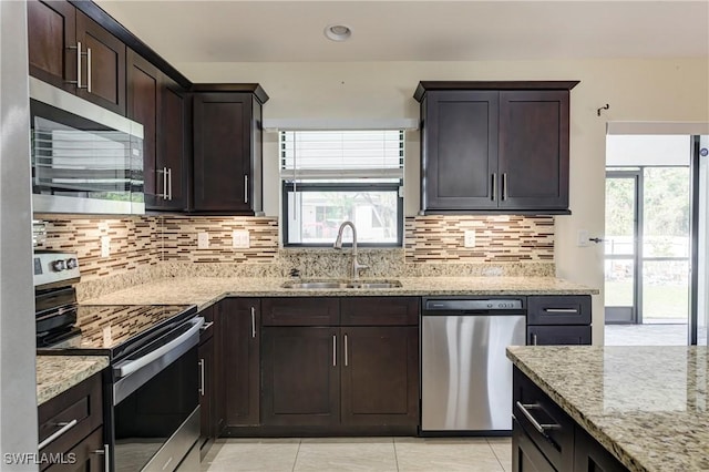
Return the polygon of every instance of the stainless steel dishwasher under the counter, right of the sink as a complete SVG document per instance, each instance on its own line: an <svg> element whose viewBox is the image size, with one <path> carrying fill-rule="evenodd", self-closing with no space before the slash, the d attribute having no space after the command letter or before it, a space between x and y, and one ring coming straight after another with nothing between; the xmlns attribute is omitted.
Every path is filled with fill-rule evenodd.
<svg viewBox="0 0 709 472"><path fill-rule="evenodd" d="M525 297L424 298L421 433L508 434L512 362L525 343Z"/></svg>

